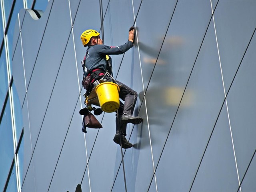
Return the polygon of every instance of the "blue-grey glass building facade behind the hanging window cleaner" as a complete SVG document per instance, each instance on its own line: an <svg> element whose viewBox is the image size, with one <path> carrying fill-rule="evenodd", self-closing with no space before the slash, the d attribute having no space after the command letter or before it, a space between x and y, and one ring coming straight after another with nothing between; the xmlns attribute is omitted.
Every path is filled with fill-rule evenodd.
<svg viewBox="0 0 256 192"><path fill-rule="evenodd" d="M11 182L14 191L256 190L255 0L24 8L11 13L12 40L2 29L0 131L9 128L0 142L12 149L0 149L10 153L3 190ZM134 147L123 150L113 142L115 113L96 116L103 128L81 131L80 35L95 29L104 44L119 46L130 26L135 46L112 56L113 74L138 92L134 115L143 123L128 124Z"/></svg>

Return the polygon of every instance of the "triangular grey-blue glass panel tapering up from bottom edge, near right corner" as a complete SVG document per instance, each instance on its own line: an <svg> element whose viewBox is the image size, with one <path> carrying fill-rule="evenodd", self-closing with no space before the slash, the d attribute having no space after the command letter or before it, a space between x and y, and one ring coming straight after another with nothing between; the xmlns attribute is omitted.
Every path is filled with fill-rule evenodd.
<svg viewBox="0 0 256 192"><path fill-rule="evenodd" d="M225 102L191 191L236 191L238 186L236 162Z"/></svg>

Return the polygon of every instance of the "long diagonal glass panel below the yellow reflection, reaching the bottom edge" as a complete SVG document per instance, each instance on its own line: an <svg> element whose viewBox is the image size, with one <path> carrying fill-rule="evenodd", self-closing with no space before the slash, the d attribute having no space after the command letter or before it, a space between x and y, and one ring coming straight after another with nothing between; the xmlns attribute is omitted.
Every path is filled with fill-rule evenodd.
<svg viewBox="0 0 256 192"><path fill-rule="evenodd" d="M170 122L170 135L156 169L159 191L190 189L224 98L211 21L176 117ZM159 142L155 135L152 140Z"/></svg>

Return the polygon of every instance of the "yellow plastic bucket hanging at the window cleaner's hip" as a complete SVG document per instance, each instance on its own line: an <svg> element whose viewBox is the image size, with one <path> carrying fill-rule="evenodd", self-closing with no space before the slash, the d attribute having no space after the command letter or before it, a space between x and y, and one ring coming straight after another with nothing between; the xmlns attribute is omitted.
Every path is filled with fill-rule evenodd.
<svg viewBox="0 0 256 192"><path fill-rule="evenodd" d="M104 112L112 113L119 108L119 86L113 82L104 82L96 86L100 107Z"/></svg>

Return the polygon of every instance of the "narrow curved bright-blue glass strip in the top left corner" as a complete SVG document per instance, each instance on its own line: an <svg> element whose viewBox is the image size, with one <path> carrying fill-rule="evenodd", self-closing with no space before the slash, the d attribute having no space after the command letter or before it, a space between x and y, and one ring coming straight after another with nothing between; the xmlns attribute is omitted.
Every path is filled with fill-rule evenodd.
<svg viewBox="0 0 256 192"><path fill-rule="evenodd" d="M15 6L14 6L14 10L12 13L12 18L8 27L8 31L7 31L7 39L8 39L8 48L9 48L9 56L10 56L10 72L12 74L12 42L13 42L13 34L14 34L14 27L15 27L15 23L16 20L18 19L18 13L20 12L20 10L23 8L23 1L16 1L15 2Z"/></svg>

